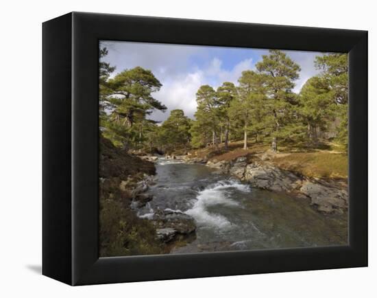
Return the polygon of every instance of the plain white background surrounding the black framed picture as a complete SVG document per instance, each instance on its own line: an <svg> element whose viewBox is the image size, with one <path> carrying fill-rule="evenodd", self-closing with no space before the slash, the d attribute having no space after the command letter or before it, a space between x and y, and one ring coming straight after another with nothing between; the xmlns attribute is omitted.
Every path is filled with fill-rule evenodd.
<svg viewBox="0 0 377 298"><path fill-rule="evenodd" d="M171 2L171 3L169 3ZM1 1L1 297L371 297L376 295L376 190L369 200L369 268L71 288L41 264L42 21L72 10L369 30L369 97L376 98L373 1ZM57 92L59 92L57 90ZM369 185L376 181L376 100L369 102ZM374 116L374 117L372 117ZM372 187L371 187L372 188ZM374 211L374 212L373 212ZM5 294L6 293L6 294ZM5 294L5 295L4 295ZM376 296L374 296L376 297Z"/></svg>

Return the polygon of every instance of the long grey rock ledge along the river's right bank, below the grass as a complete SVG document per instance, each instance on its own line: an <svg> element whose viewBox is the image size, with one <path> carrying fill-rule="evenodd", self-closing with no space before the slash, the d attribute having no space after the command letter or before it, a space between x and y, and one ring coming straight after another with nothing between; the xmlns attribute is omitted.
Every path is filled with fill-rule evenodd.
<svg viewBox="0 0 377 298"><path fill-rule="evenodd" d="M253 187L309 198L311 205L324 213L343 213L348 209L348 190L345 183L300 176L282 170L266 160L247 162L246 157L239 157L234 161L212 159L206 165L247 181Z"/></svg>

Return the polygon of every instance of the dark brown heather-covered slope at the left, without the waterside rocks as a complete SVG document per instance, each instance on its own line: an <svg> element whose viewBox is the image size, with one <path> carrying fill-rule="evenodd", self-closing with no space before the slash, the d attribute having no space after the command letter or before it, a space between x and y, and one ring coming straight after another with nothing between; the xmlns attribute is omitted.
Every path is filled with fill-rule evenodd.
<svg viewBox="0 0 377 298"><path fill-rule="evenodd" d="M114 147L104 137L99 148L99 255L161 253L154 225L138 218L130 207L138 182L156 172L154 164Z"/></svg>

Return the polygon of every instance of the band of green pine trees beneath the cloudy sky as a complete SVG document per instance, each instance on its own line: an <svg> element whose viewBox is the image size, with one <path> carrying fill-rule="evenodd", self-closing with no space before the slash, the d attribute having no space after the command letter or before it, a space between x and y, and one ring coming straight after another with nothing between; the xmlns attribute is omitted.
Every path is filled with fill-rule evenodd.
<svg viewBox="0 0 377 298"><path fill-rule="evenodd" d="M184 111L170 111L162 123L149 119L167 106L154 98L161 82L148 69L134 67L115 76L115 67L104 62L100 49L99 117L101 135L114 146L149 153L186 154L212 146L228 150L231 141L269 144L278 151L288 147L321 148L331 139L348 148L348 58L347 54L323 54L315 58L319 75L308 79L294 93L299 78L297 65L284 51L272 49L243 71L235 85L208 84L196 93L195 119Z"/></svg>

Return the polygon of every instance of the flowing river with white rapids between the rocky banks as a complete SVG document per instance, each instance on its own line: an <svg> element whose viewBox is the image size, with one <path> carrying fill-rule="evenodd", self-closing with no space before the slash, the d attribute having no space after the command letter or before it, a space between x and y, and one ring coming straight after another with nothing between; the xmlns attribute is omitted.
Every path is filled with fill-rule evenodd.
<svg viewBox="0 0 377 298"><path fill-rule="evenodd" d="M320 214L308 200L258 190L205 165L159 159L154 199L138 211L182 211L195 219L195 240L171 253L321 247L348 243L347 215Z"/></svg>

